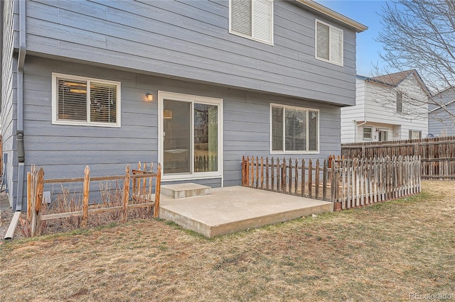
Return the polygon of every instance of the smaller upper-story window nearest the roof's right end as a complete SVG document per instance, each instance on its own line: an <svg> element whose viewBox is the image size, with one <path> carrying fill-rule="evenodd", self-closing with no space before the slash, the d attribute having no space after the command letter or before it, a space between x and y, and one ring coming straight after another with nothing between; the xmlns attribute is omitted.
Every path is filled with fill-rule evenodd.
<svg viewBox="0 0 455 302"><path fill-rule="evenodd" d="M343 66L343 30L316 20L316 59Z"/></svg>

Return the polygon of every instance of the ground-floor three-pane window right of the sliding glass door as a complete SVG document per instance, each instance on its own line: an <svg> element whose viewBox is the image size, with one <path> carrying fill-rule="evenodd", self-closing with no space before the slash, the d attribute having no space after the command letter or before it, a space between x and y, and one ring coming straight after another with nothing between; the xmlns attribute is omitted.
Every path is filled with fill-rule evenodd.
<svg viewBox="0 0 455 302"><path fill-rule="evenodd" d="M319 110L272 104L272 152L319 152Z"/></svg>

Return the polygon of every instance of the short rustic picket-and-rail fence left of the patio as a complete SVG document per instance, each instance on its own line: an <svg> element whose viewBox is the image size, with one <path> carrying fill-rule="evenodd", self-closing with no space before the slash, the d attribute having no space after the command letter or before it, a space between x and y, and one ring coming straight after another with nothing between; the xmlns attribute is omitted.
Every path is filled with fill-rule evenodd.
<svg viewBox="0 0 455 302"><path fill-rule="evenodd" d="M161 189L161 164L158 164L156 172L151 172L153 165L147 169L144 164L144 169L141 169L141 163L138 164L137 170L132 170L130 174L129 165L125 169L124 175L105 176L105 177L90 177L90 167L86 166L84 177L62 178L62 179L44 179L44 170L42 167L38 169L36 165L32 165L31 172L27 173L27 216L26 219L31 228L31 236L41 235L41 222L44 220L69 218L82 216L80 226L87 227L87 218L90 214L107 213L118 211L122 223L127 221L128 211L135 208L154 208L154 217L159 216L159 197ZM113 181L123 179L122 190L122 205L97 207L97 203L89 206L90 198L90 181ZM148 183L147 183L148 180ZM132 184L132 192L130 197L130 187ZM43 189L44 184L65 184L82 182L82 210L63 213L52 213L43 215ZM152 187L155 192L152 194Z"/></svg>

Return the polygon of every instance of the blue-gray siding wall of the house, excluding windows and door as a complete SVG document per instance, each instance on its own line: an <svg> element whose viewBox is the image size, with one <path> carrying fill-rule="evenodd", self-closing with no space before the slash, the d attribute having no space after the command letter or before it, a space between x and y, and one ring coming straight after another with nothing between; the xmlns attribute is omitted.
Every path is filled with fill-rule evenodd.
<svg viewBox="0 0 455 302"><path fill-rule="evenodd" d="M9 155L11 204L20 195L19 32L26 49L25 171L38 164L46 178L74 177L89 164L93 175L122 174L126 164L161 161L159 91L222 100L222 173L191 181L240 184L242 155L271 153L271 104L319 112L319 152L298 157L323 159L340 152L340 108L355 104L356 29L298 1L272 1L272 43L232 34L228 0L2 4L4 41L10 43L4 42L2 51L1 134ZM342 30L342 64L316 58L316 22ZM53 73L119 82L119 127L53 123ZM154 102L145 101L147 92Z"/></svg>

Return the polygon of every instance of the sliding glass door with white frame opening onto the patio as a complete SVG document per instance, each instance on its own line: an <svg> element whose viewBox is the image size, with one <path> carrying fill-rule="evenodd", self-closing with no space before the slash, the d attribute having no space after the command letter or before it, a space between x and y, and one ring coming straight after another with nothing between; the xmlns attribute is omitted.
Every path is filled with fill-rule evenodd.
<svg viewBox="0 0 455 302"><path fill-rule="evenodd" d="M162 92L160 101L164 175L220 176L222 100Z"/></svg>

